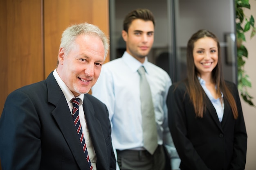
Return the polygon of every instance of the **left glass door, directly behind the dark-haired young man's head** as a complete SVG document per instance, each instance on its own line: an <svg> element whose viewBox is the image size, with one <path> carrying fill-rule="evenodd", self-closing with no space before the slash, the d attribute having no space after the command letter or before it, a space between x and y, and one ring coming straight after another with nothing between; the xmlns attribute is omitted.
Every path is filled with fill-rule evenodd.
<svg viewBox="0 0 256 170"><path fill-rule="evenodd" d="M155 41L148 61L159 65L173 78L172 18L170 0L110 0L110 60L122 56L126 44L121 37L124 17L133 9L146 8L155 17Z"/></svg>

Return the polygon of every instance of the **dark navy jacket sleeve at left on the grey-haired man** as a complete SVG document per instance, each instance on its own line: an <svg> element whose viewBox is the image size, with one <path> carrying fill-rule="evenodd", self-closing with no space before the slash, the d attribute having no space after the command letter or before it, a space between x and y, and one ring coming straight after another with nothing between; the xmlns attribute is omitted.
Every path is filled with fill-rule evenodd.
<svg viewBox="0 0 256 170"><path fill-rule="evenodd" d="M0 119L2 168L40 169L40 134L40 121L33 101L23 92L12 92Z"/></svg>

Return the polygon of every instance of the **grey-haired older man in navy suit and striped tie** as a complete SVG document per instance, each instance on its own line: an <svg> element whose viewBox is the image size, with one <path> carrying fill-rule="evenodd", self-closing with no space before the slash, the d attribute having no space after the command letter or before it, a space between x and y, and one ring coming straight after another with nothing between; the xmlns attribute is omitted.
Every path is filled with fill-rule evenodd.
<svg viewBox="0 0 256 170"><path fill-rule="evenodd" d="M3 170L116 169L108 110L87 94L108 48L97 26L70 26L62 34L57 69L9 94L0 119Z"/></svg>

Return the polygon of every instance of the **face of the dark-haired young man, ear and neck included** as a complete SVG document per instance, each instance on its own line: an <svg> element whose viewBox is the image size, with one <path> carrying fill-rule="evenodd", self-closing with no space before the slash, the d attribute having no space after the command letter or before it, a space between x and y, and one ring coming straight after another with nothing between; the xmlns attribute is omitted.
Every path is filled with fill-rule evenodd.
<svg viewBox="0 0 256 170"><path fill-rule="evenodd" d="M144 62L154 42L154 24L152 21L133 20L128 33L122 31L126 41L126 51L141 63Z"/></svg>

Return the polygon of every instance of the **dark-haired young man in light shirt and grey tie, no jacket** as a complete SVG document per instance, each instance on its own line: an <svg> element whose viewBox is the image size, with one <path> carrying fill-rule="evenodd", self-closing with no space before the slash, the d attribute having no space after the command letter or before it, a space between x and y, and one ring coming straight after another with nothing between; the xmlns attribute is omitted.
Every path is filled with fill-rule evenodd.
<svg viewBox="0 0 256 170"><path fill-rule="evenodd" d="M108 107L121 170L164 170L165 149L170 157L178 157L168 129L165 102L171 79L146 57L153 45L154 29L154 17L148 9L128 13L122 31L126 52L103 65L92 88L92 95ZM148 85L140 87L145 81L139 68L146 72L149 89ZM144 104L147 100L149 104Z"/></svg>

